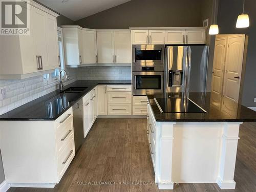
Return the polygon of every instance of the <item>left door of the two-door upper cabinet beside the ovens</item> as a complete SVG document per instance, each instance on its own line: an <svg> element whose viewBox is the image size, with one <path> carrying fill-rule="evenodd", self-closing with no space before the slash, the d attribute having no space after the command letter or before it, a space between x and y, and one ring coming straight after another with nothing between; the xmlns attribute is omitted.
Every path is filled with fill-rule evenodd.
<svg viewBox="0 0 256 192"><path fill-rule="evenodd" d="M114 31L97 31L98 63L114 63Z"/></svg>

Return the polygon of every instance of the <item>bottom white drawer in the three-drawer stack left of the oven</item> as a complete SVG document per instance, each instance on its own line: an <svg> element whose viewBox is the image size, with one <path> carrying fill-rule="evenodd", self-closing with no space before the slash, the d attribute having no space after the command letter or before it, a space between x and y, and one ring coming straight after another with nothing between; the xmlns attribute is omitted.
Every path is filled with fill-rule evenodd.
<svg viewBox="0 0 256 192"><path fill-rule="evenodd" d="M108 104L108 115L132 115L130 103L109 103Z"/></svg>

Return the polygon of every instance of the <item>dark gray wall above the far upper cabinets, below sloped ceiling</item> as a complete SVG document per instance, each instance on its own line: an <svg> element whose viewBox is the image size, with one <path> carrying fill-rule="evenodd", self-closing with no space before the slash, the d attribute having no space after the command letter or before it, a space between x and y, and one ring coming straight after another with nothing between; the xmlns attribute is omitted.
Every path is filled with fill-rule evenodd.
<svg viewBox="0 0 256 192"><path fill-rule="evenodd" d="M201 1L205 0L132 0L77 20L76 24L94 29L202 26Z"/></svg>

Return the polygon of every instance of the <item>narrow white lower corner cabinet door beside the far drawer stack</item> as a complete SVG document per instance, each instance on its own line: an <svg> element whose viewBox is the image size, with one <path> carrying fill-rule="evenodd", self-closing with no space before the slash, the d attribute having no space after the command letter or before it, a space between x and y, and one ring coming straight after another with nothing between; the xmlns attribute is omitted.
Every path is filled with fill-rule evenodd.
<svg viewBox="0 0 256 192"><path fill-rule="evenodd" d="M108 114L108 101L106 93L106 85L97 86L98 91L98 115Z"/></svg>

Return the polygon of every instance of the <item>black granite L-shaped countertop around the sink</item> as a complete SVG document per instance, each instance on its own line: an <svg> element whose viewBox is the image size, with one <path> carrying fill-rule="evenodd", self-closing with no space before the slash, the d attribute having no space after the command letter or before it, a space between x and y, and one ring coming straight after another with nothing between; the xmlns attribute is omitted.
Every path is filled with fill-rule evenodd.
<svg viewBox="0 0 256 192"><path fill-rule="evenodd" d="M70 87L88 87L83 92L59 93L56 90L1 115L0 121L56 120L98 84L131 84L131 80L78 80L63 87L63 90Z"/></svg>

